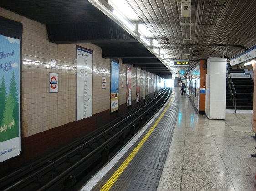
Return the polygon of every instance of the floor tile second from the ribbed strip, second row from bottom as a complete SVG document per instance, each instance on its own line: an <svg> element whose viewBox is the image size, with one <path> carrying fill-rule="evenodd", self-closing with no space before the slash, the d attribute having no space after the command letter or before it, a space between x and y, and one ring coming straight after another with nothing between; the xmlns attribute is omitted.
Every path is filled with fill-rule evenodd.
<svg viewBox="0 0 256 191"><path fill-rule="evenodd" d="M183 169L227 173L220 156L184 153Z"/></svg>

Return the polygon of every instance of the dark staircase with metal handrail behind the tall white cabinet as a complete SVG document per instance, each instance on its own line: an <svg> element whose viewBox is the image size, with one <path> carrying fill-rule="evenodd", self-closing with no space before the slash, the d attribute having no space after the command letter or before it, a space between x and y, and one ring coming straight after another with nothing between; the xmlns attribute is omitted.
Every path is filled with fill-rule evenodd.
<svg viewBox="0 0 256 191"><path fill-rule="evenodd" d="M232 69L230 63L227 63L236 90L236 109L253 110L253 81L245 75L243 69ZM226 109L235 109L231 99L230 89L227 84L226 90Z"/></svg>

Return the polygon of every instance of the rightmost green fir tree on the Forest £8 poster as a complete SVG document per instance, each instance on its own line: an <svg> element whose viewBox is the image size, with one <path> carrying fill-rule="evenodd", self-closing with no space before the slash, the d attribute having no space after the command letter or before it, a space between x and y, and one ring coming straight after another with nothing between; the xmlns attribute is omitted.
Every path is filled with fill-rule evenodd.
<svg viewBox="0 0 256 191"><path fill-rule="evenodd" d="M17 83L15 81L14 72L12 72L11 80L10 80L10 94L14 101L14 108L13 108L13 117L15 120L15 126L18 127L19 122L19 103L18 103L18 92L17 92Z"/></svg>

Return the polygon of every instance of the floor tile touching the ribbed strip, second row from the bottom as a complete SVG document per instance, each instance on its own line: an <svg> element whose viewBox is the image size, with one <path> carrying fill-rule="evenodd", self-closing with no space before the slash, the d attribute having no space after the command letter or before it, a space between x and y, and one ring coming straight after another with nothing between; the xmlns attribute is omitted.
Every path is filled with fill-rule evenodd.
<svg viewBox="0 0 256 191"><path fill-rule="evenodd" d="M168 152L164 168L178 168L182 169L183 153L181 152Z"/></svg>

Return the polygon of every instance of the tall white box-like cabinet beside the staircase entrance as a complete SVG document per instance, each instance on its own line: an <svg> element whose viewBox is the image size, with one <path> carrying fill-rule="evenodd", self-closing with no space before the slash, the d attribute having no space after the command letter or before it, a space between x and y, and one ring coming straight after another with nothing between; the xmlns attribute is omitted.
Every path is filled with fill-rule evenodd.
<svg viewBox="0 0 256 191"><path fill-rule="evenodd" d="M205 114L209 119L226 118L226 71L226 59L207 59Z"/></svg>

